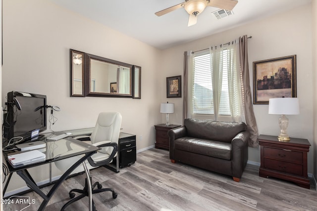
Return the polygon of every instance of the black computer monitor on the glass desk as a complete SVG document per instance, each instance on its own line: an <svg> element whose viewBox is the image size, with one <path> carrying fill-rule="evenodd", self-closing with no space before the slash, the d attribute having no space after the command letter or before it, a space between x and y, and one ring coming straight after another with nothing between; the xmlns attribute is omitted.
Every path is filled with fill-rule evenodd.
<svg viewBox="0 0 317 211"><path fill-rule="evenodd" d="M47 128L46 95L20 91L7 93L7 113L4 115L4 137L22 136L28 140Z"/></svg>

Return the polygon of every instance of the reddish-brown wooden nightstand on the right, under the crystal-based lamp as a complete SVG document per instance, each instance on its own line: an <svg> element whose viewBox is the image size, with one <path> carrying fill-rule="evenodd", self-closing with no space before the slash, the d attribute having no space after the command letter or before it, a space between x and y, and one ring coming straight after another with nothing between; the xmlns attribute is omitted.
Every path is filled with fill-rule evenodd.
<svg viewBox="0 0 317 211"><path fill-rule="evenodd" d="M262 177L276 177L295 182L310 188L307 175L307 153L311 144L307 139L291 138L290 141L278 141L277 136L260 135Z"/></svg>

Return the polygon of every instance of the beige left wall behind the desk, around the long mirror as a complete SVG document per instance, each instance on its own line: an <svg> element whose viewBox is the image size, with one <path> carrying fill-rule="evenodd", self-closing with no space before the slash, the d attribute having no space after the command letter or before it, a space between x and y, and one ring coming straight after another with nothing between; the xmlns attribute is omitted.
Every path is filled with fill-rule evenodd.
<svg viewBox="0 0 317 211"><path fill-rule="evenodd" d="M142 99L69 97L70 48L141 66ZM153 146L154 125L160 123L156 75L160 55L150 45L50 1L3 1L2 106L11 90L45 94L49 105L61 108L54 112L58 118L52 126L55 131L94 127L100 112L118 111L122 131L137 135L137 150ZM42 181L48 169L38 169L36 174L36 181ZM14 181L7 191L25 185L20 178Z"/></svg>

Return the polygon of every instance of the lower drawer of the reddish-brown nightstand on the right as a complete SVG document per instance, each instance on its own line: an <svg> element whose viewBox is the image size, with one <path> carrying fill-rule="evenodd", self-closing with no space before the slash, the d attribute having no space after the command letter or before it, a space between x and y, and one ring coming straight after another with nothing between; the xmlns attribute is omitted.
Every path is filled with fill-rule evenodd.
<svg viewBox="0 0 317 211"><path fill-rule="evenodd" d="M264 158L264 168L303 176L303 165Z"/></svg>

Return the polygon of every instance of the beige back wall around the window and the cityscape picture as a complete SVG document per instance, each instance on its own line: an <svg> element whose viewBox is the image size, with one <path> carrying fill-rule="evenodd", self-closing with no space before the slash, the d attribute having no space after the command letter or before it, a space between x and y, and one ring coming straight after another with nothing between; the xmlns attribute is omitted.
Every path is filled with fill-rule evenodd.
<svg viewBox="0 0 317 211"><path fill-rule="evenodd" d="M294 16L296 14L296 18ZM253 89L253 62L288 55L297 55L297 96L300 99L300 115L289 116L288 133L292 137L307 138L313 145L313 67L312 67L312 12L311 5L257 20L204 39L189 42L163 51L160 80L183 74L183 52L207 48L210 44L226 43L247 34L250 83ZM161 91L161 101L175 103L171 124L182 123L182 98L166 98ZM268 105L254 105L259 134L277 135L278 116L268 115ZM161 116L161 121L164 117ZM313 152L308 155L308 171L313 173ZM249 162L260 163L259 148L249 148Z"/></svg>

